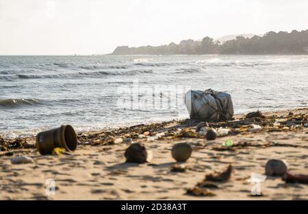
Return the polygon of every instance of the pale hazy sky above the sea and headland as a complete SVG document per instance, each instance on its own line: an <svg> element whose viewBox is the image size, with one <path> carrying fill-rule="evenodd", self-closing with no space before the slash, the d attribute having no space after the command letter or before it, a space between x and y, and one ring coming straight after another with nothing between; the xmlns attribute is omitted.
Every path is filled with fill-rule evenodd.
<svg viewBox="0 0 308 214"><path fill-rule="evenodd" d="M111 53L308 29L307 0L0 0L0 55Z"/></svg>

